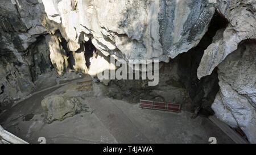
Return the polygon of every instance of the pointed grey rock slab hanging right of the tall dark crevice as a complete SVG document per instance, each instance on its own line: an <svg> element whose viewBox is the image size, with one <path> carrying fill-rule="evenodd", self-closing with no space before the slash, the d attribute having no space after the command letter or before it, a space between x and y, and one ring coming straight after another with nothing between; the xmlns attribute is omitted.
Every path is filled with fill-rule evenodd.
<svg viewBox="0 0 256 155"><path fill-rule="evenodd" d="M213 43L205 50L197 73L199 78L212 73L242 40L256 39L255 1L220 1L218 9L229 24L217 32Z"/></svg>

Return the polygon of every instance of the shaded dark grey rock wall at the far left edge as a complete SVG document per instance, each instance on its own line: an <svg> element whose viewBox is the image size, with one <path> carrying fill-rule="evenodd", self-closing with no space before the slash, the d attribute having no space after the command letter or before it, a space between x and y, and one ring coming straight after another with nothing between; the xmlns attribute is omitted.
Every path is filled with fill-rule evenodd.
<svg viewBox="0 0 256 155"><path fill-rule="evenodd" d="M44 6L38 1L0 1L0 102L18 99L34 87L36 77L50 70Z"/></svg>

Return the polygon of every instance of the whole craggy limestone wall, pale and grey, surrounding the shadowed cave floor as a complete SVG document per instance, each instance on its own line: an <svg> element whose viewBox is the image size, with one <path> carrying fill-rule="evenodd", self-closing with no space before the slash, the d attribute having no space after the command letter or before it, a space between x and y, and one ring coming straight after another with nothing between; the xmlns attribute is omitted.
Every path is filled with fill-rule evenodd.
<svg viewBox="0 0 256 155"><path fill-rule="evenodd" d="M214 34L197 77L218 69L215 114L256 143L255 7L254 0L2 0L0 102L26 95L52 68L96 74L98 66L86 66L90 41L102 53L94 64L110 55L169 62L199 44L217 12L227 26Z"/></svg>

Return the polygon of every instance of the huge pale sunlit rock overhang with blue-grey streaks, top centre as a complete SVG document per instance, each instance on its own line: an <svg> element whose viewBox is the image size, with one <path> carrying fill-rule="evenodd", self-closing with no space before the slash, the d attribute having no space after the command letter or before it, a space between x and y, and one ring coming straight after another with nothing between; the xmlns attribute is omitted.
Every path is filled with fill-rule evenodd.
<svg viewBox="0 0 256 155"><path fill-rule="evenodd" d="M195 47L214 7L207 1L43 0L48 18L65 28L68 47L92 36L106 56L167 62Z"/></svg>

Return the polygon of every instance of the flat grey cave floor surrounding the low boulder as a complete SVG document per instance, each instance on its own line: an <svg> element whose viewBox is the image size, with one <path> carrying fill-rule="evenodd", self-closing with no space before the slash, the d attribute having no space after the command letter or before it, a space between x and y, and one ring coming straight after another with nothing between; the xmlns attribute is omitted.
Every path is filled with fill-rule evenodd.
<svg viewBox="0 0 256 155"><path fill-rule="evenodd" d="M93 83L92 91L77 91L77 80L22 100L0 115L0 124L28 143L39 143L39 137L46 143L209 143L209 137L216 137L217 143L234 143L208 118L191 119L187 111L147 110L110 99L102 95L101 83ZM52 94L79 97L91 111L47 124L40 103Z"/></svg>

